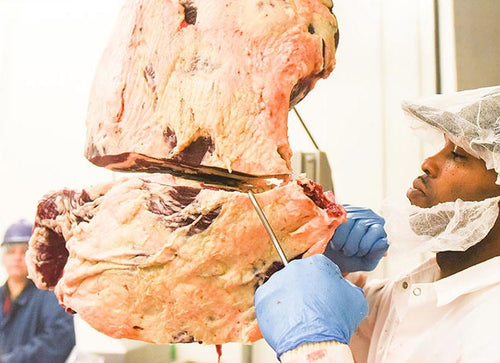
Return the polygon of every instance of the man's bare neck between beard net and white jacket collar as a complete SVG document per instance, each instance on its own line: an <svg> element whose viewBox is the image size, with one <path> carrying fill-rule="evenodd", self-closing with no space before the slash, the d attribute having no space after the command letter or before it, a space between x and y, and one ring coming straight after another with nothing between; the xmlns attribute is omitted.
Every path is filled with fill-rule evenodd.
<svg viewBox="0 0 500 363"><path fill-rule="evenodd" d="M439 252L436 260L441 269L440 278L451 276L496 256L500 256L500 218L481 242L466 251Z"/></svg>

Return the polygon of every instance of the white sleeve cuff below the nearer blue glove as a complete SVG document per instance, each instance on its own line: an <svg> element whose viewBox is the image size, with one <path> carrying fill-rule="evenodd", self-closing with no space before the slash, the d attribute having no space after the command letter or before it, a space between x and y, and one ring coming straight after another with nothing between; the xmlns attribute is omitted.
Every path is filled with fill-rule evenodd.
<svg viewBox="0 0 500 363"><path fill-rule="evenodd" d="M353 363L351 350L345 344L329 341L301 344L285 352L281 363Z"/></svg>

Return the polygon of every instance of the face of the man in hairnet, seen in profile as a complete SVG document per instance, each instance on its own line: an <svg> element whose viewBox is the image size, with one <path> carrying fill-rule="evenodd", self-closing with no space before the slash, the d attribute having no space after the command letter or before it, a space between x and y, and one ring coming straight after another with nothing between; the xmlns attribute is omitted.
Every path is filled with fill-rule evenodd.
<svg viewBox="0 0 500 363"><path fill-rule="evenodd" d="M429 208L438 203L480 201L500 195L497 173L446 139L437 154L422 163L423 175L413 181L406 196L411 204Z"/></svg>

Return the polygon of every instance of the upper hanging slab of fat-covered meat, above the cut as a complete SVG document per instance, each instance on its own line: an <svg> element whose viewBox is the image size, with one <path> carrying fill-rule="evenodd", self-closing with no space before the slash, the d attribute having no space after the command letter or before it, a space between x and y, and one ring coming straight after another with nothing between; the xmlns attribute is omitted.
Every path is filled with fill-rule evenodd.
<svg viewBox="0 0 500 363"><path fill-rule="evenodd" d="M335 66L332 6L127 1L93 83L85 156L120 171L290 174L288 110Z"/></svg>

